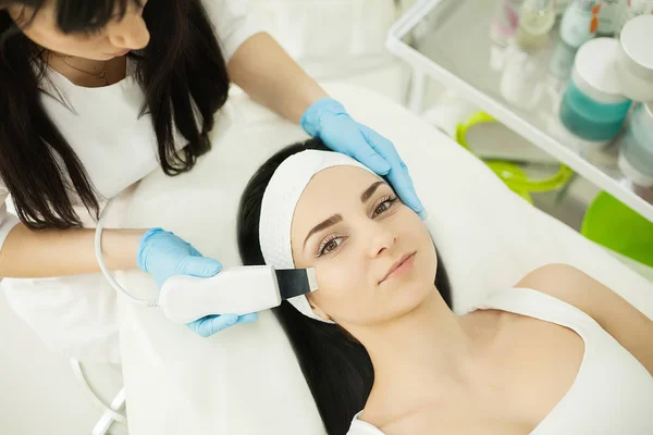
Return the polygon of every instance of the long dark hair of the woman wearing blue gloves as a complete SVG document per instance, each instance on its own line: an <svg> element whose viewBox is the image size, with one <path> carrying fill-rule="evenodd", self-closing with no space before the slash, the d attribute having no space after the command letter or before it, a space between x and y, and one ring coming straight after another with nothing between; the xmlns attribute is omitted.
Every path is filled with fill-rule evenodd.
<svg viewBox="0 0 653 435"><path fill-rule="evenodd" d="M5 10L9 4L25 7L19 24L29 26L46 1L0 0L0 177L19 217L33 229L81 226L70 194L76 194L96 219L99 209L81 160L41 102L48 79L44 49ZM66 34L93 32L113 17L116 4L124 15L132 1L140 5L140 0L57 0L57 23ZM226 101L229 76L202 0L150 1L143 18L151 33L149 45L128 54L146 96L140 115L151 114L161 167L176 175L190 170L210 149L208 132L213 114ZM199 112L197 123L193 102ZM175 127L188 144L178 156Z"/></svg>

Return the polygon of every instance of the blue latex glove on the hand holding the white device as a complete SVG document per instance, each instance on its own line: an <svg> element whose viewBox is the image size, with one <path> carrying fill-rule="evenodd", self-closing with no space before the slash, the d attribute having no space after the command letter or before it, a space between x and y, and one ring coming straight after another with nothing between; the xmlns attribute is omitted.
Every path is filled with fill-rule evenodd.
<svg viewBox="0 0 653 435"><path fill-rule="evenodd" d="M173 275L208 278L222 269L219 261L202 257L190 244L161 228L151 228L140 238L136 261L141 271L152 275L159 288ZM257 319L258 313L207 315L187 326L199 336L209 337L235 324Z"/></svg>

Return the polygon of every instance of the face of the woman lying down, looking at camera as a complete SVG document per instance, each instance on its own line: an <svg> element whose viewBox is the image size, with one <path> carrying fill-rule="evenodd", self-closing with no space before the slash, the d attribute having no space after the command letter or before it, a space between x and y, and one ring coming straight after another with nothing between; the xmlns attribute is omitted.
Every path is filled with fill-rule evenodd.
<svg viewBox="0 0 653 435"><path fill-rule="evenodd" d="M436 258L427 227L392 188L355 166L316 174L292 226L297 268L316 268L318 314L343 326L403 315L434 291Z"/></svg>

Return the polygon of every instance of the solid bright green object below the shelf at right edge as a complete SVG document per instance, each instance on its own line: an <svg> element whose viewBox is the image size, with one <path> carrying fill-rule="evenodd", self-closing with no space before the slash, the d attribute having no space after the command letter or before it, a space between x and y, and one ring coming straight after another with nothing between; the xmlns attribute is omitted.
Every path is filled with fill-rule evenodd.
<svg viewBox="0 0 653 435"><path fill-rule="evenodd" d="M605 191L588 208L581 233L601 246L653 268L653 222Z"/></svg>

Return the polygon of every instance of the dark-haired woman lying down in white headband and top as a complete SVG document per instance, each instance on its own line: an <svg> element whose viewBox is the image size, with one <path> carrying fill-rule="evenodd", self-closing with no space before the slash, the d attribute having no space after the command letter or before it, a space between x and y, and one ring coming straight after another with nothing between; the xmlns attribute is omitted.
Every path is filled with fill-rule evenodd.
<svg viewBox="0 0 653 435"><path fill-rule="evenodd" d="M249 182L238 244L316 269L276 314L329 434L653 434L650 319L563 264L454 314L419 216L316 140Z"/></svg>

